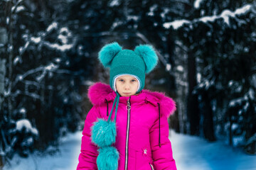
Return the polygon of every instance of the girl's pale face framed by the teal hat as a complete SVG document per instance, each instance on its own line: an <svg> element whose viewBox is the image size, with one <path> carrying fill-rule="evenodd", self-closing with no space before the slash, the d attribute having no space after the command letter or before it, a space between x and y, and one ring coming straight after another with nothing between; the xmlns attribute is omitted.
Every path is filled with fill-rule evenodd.
<svg viewBox="0 0 256 170"><path fill-rule="evenodd" d="M117 92L120 96L132 96L138 90L139 82L135 77L124 75L116 80Z"/></svg>

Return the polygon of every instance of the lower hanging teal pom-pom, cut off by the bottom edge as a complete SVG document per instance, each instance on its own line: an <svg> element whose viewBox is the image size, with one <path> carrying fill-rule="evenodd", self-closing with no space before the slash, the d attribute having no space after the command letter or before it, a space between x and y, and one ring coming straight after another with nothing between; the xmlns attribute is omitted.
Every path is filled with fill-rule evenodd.
<svg viewBox="0 0 256 170"><path fill-rule="evenodd" d="M103 147L99 149L97 157L97 168L99 170L117 170L119 152L114 147Z"/></svg>

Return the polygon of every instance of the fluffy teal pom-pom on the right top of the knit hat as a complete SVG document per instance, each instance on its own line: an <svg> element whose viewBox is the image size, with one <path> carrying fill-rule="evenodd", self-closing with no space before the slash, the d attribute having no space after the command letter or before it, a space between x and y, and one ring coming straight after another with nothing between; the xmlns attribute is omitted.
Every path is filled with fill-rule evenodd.
<svg viewBox="0 0 256 170"><path fill-rule="evenodd" d="M156 67L158 57L156 55L156 52L154 51L154 48L151 45L138 45L135 47L134 52L137 53L142 59L144 60L146 64L146 71L145 73L151 72L154 67Z"/></svg>

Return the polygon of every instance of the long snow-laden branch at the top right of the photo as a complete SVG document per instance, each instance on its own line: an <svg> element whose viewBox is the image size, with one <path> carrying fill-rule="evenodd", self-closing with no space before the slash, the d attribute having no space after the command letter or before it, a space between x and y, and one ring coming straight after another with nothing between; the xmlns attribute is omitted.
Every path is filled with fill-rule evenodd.
<svg viewBox="0 0 256 170"><path fill-rule="evenodd" d="M241 8L236 9L234 12L226 9L222 13L220 13L219 16L217 16L217 15L203 16L201 18L193 19L193 21L176 20L176 21L172 21L172 22L169 22L169 23L164 23L164 28L168 29L170 27L173 27L174 29L178 29L181 26L183 26L184 23L190 23L191 24L191 23L196 23L196 22L200 22L200 21L203 22L203 23L207 23L207 22L213 22L218 18L223 18L225 23L227 23L228 26L229 26L229 18L235 18L236 15L241 15L243 13L247 13L248 11L250 11L251 8L252 8L252 6L247 4L245 6L242 6Z"/></svg>

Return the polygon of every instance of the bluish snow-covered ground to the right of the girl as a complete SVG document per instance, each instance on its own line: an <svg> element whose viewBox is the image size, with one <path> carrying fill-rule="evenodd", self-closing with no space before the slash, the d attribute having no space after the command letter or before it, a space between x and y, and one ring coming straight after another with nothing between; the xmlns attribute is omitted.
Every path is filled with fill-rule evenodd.
<svg viewBox="0 0 256 170"><path fill-rule="evenodd" d="M223 142L170 132L177 169L255 169L256 157Z"/></svg>

